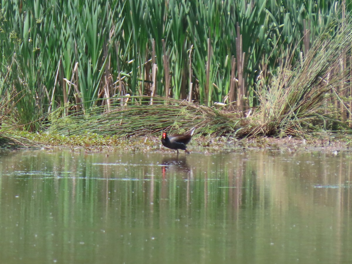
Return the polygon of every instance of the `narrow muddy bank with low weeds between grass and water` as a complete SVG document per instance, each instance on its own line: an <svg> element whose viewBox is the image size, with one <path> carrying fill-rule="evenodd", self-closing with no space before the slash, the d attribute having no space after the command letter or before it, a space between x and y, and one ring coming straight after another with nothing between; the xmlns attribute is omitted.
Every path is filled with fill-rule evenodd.
<svg viewBox="0 0 352 264"><path fill-rule="evenodd" d="M64 136L48 133L20 132L15 136L21 140L32 142L32 147L48 149L71 149L72 151L125 151L125 152L173 152L161 144L161 136L118 137L103 136L95 133ZM19 140L18 140L19 141ZM195 135L187 145L190 152L219 153L245 151L248 149L272 151L319 151L333 153L352 150L350 135L325 135L318 137L306 136L306 139L284 137L232 138ZM6 142L5 142L6 143ZM350 147L351 145L351 147ZM8 146L8 143L4 144ZM24 145L31 147L30 144ZM180 154L183 151L180 151Z"/></svg>

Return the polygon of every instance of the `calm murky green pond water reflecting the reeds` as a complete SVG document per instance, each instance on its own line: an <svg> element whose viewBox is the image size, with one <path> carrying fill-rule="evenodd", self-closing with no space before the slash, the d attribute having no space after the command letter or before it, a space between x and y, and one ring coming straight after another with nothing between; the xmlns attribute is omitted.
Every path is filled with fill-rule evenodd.
<svg viewBox="0 0 352 264"><path fill-rule="evenodd" d="M0 154L0 263L350 263L352 156Z"/></svg>

